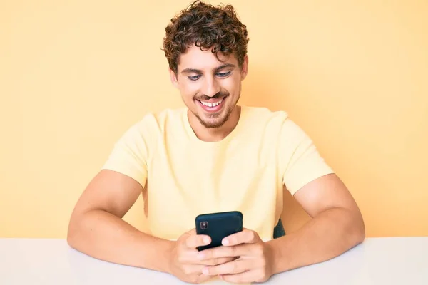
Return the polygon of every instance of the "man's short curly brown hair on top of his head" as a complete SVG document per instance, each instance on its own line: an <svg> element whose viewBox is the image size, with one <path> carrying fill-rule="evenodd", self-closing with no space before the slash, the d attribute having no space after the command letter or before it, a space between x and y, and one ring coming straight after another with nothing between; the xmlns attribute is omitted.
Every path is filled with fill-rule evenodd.
<svg viewBox="0 0 428 285"><path fill-rule="evenodd" d="M163 51L174 73L177 73L180 54L193 45L203 51L211 48L219 61L218 52L225 56L235 53L239 66L247 54L247 27L240 22L230 4L213 6L194 1L171 19L165 32Z"/></svg>

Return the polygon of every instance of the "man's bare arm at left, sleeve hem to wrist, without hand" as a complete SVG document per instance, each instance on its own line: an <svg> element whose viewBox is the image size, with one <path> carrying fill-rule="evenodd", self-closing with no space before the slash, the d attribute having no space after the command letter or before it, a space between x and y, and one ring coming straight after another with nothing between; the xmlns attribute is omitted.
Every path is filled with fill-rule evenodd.
<svg viewBox="0 0 428 285"><path fill-rule="evenodd" d="M144 234L122 219L142 190L131 177L101 170L71 214L68 244L104 261L167 271L173 242Z"/></svg>

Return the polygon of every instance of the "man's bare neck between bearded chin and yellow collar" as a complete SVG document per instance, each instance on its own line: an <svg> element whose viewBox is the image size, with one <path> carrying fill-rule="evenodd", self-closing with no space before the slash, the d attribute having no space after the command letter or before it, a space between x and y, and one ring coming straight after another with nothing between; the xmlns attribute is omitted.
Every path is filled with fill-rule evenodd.
<svg viewBox="0 0 428 285"><path fill-rule="evenodd" d="M235 129L236 125L238 125L240 110L240 106L236 105L232 113L230 113L228 120L220 128L205 128L198 118L188 111L190 127L200 140L218 142L226 138Z"/></svg>

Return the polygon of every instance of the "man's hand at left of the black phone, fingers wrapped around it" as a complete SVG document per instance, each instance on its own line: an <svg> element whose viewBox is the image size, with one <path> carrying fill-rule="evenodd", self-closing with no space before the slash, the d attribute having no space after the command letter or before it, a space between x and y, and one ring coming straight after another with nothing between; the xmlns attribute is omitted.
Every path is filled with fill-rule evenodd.
<svg viewBox="0 0 428 285"><path fill-rule="evenodd" d="M202 283L213 276L205 276L202 270L206 266L215 266L224 264L225 262L233 261L234 257L218 257L208 258L204 260L198 259L197 247L210 244L211 239L207 235L196 234L195 229L185 232L174 243L173 249L170 252L170 262L168 271L181 281L188 283Z"/></svg>

